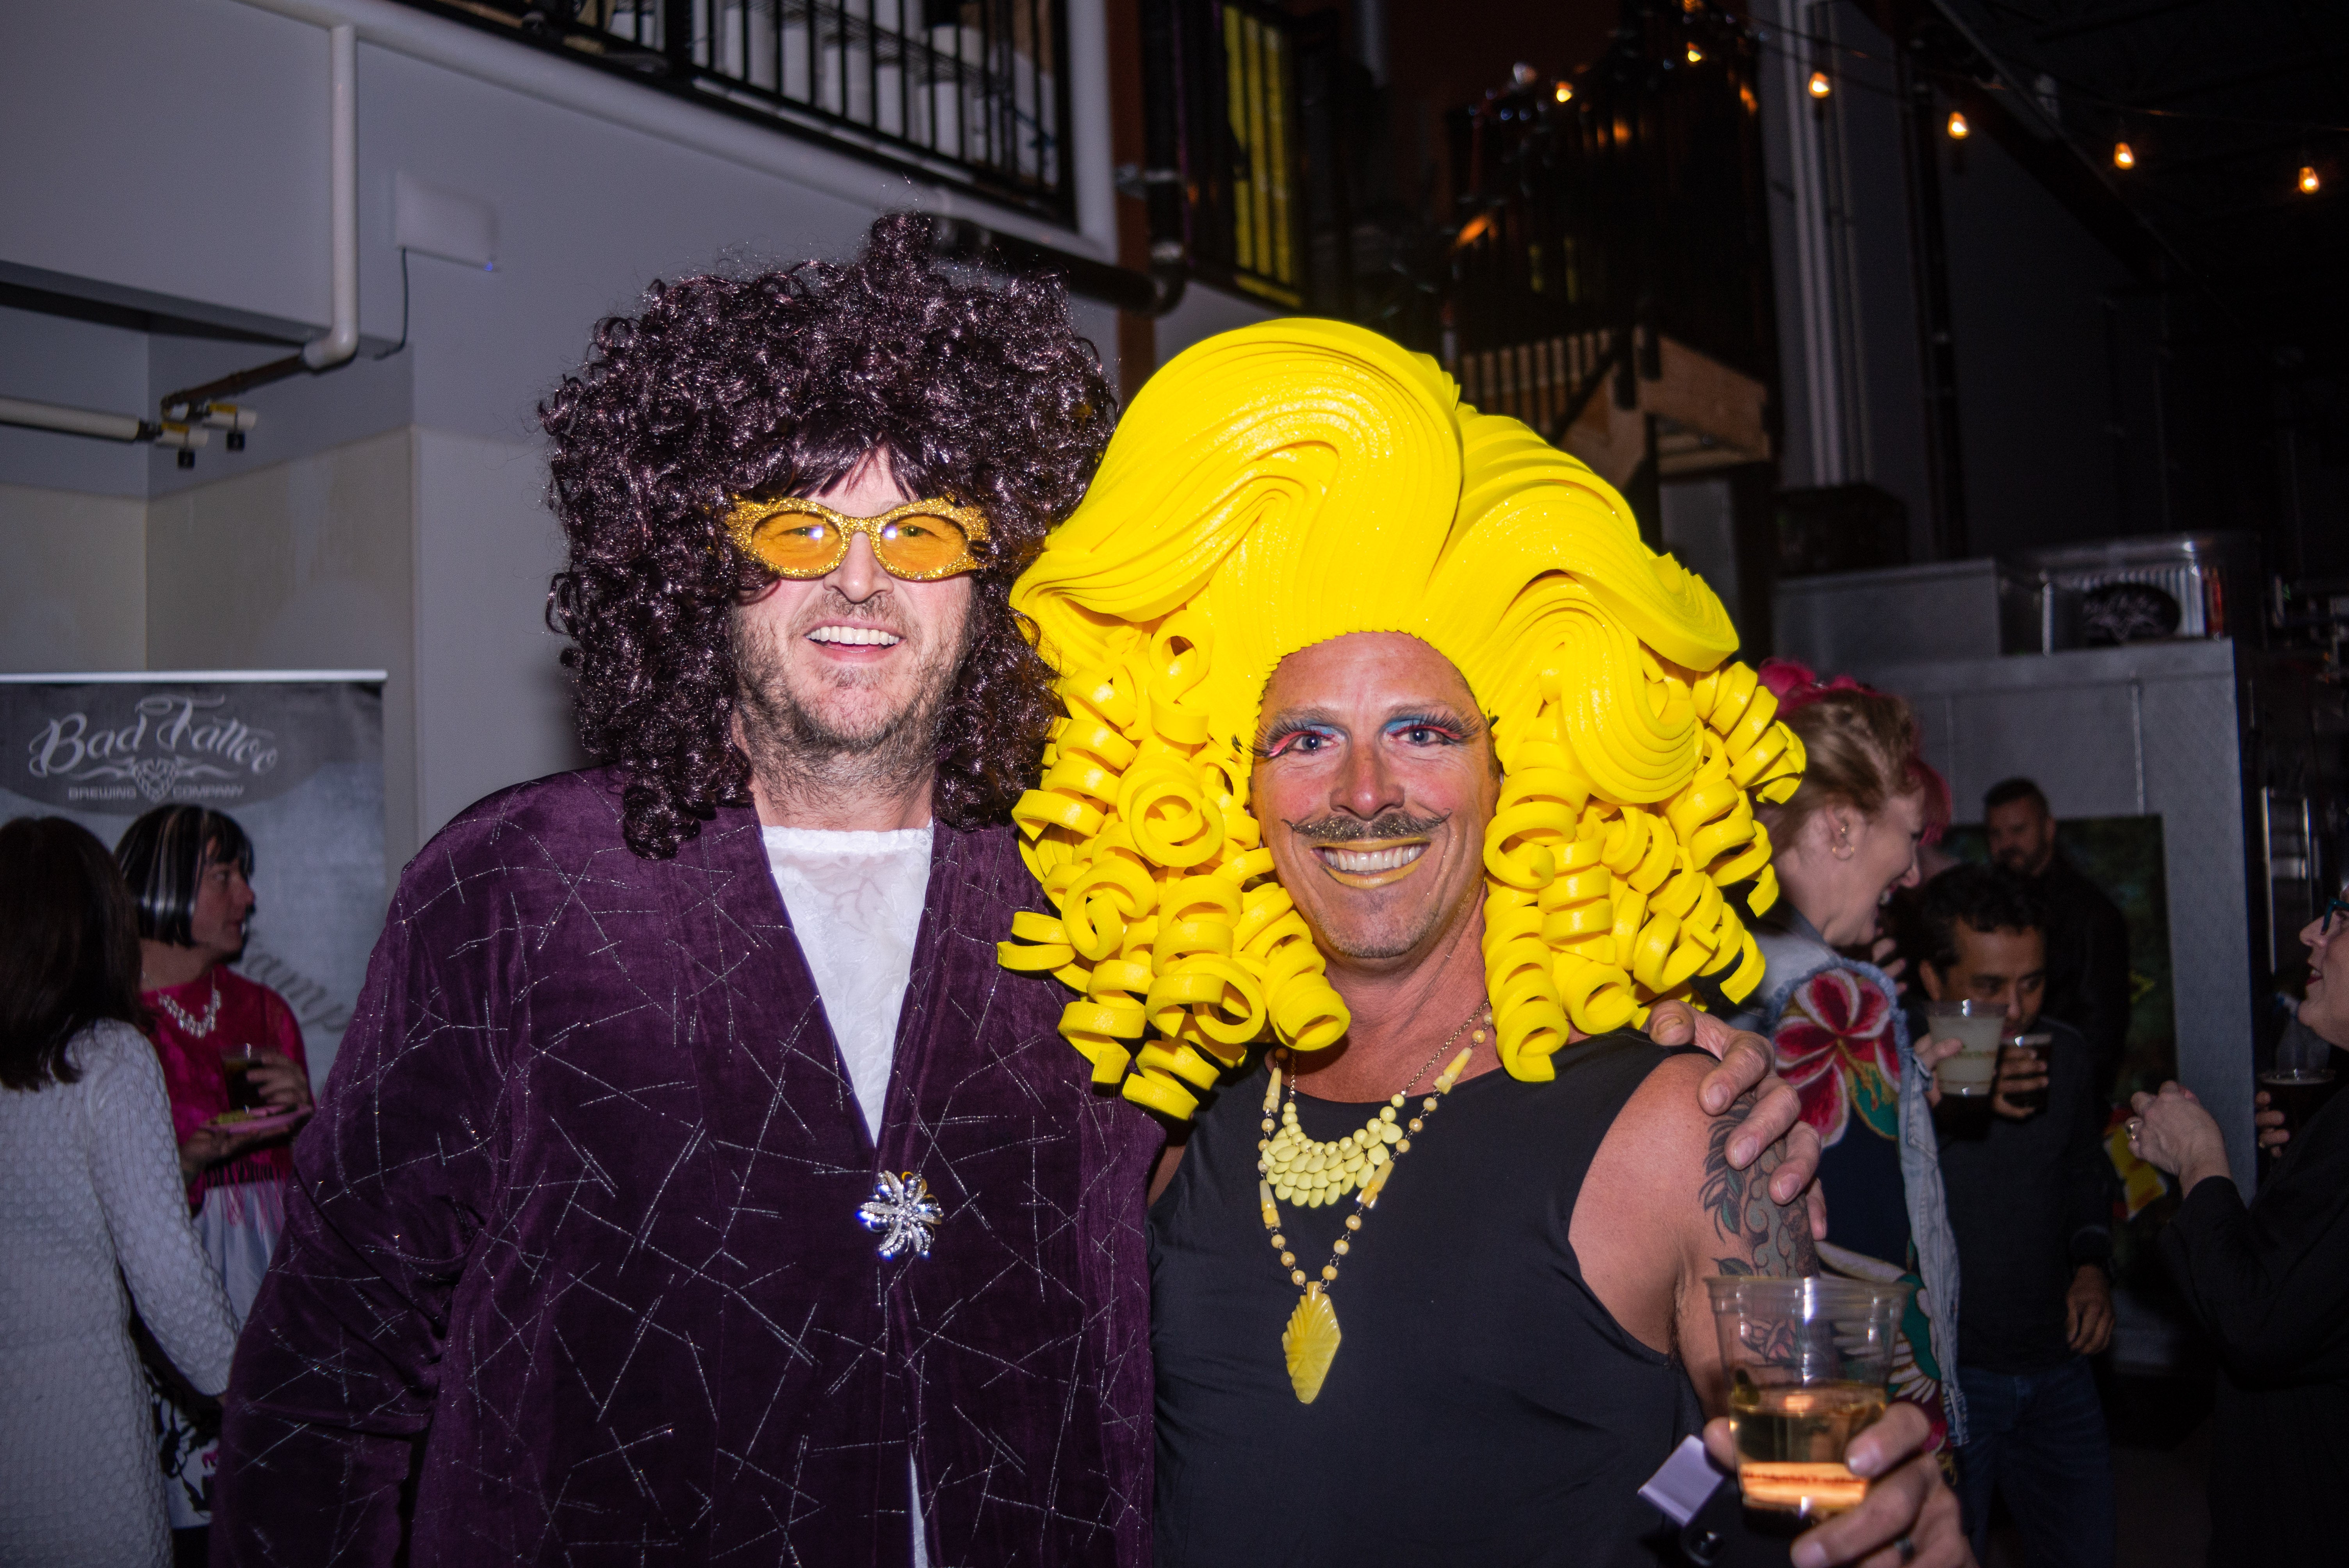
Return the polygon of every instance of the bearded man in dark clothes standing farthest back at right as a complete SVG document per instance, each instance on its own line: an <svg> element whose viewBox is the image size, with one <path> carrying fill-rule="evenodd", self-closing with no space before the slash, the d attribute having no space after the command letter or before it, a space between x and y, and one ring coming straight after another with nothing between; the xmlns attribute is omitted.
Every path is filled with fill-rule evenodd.
<svg viewBox="0 0 2349 1568"><path fill-rule="evenodd" d="M2105 890L2055 852L2055 815L2030 779L1983 796L1990 859L2030 878L2046 908L2048 988L2041 1012L2088 1040L2095 1094L2112 1099L2128 1045L2128 922Z"/></svg>

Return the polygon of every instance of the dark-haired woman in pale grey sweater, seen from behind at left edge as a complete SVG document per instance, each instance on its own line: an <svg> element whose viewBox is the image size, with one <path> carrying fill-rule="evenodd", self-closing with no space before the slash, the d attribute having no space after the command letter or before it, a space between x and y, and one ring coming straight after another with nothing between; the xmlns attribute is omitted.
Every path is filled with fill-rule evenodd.
<svg viewBox="0 0 2349 1568"><path fill-rule="evenodd" d="M63 817L0 826L0 1568L164 1568L139 1319L204 1394L235 1329L188 1223L139 930Z"/></svg>

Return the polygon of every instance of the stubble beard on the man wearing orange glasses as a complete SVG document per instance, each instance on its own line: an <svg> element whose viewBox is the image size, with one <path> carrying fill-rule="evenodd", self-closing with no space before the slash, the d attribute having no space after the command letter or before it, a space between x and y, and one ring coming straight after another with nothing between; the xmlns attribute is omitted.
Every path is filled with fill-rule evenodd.
<svg viewBox="0 0 2349 1568"><path fill-rule="evenodd" d="M839 606L836 606L839 608ZM895 617L832 615L881 627L914 641ZM792 692L789 662L780 636L745 615L731 622L735 662L735 714L752 775L778 796L897 793L921 784L937 768L937 732L954 695L956 674L970 648L972 617L963 617L956 643L940 638L914 669L914 697L893 714L864 723L834 723L815 704ZM803 636L801 627L782 636ZM834 690L864 685L843 681Z"/></svg>

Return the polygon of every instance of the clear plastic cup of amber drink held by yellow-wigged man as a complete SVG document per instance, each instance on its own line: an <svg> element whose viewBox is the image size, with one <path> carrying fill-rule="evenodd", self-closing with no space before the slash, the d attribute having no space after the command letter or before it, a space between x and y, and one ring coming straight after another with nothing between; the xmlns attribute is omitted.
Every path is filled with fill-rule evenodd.
<svg viewBox="0 0 2349 1568"><path fill-rule="evenodd" d="M1745 1507L1797 1519L1858 1507L1867 1481L1844 1448L1884 1415L1910 1286L1715 1275L1705 1289Z"/></svg>

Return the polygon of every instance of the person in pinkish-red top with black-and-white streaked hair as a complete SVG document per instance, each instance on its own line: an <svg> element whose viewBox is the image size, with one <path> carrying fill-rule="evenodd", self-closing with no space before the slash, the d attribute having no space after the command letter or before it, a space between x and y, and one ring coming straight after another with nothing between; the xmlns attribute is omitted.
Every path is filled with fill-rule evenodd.
<svg viewBox="0 0 2349 1568"><path fill-rule="evenodd" d="M115 859L139 904L139 986L171 1094L181 1178L242 1326L284 1230L289 1143L310 1113L294 1009L228 967L254 915L254 845L233 817L160 805L129 826ZM164 1378L153 1383L171 1528L207 1528L218 1408Z"/></svg>

